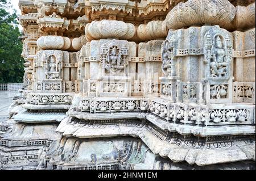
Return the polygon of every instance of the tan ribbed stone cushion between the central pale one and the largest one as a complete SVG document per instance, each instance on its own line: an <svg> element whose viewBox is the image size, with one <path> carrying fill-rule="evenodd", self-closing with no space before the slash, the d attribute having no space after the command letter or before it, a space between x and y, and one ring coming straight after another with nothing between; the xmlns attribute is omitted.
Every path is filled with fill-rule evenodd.
<svg viewBox="0 0 256 181"><path fill-rule="evenodd" d="M166 38L167 35L166 20L141 24L137 29L137 37L143 41Z"/></svg>

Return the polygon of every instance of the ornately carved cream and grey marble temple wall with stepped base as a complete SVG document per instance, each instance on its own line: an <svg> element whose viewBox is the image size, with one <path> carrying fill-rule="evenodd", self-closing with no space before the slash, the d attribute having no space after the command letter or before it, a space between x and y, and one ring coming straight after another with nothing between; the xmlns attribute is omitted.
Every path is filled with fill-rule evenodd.
<svg viewBox="0 0 256 181"><path fill-rule="evenodd" d="M255 1L19 7L0 169L255 169Z"/></svg>

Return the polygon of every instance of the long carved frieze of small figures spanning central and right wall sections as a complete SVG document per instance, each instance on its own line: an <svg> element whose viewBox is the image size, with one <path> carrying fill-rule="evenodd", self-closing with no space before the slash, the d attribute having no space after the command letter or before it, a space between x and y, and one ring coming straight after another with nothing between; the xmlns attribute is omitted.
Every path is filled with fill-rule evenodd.
<svg viewBox="0 0 256 181"><path fill-rule="evenodd" d="M167 121L187 124L246 123L254 124L253 108L210 108L208 106L173 103L169 105L154 100L81 100L77 111L150 111Z"/></svg>

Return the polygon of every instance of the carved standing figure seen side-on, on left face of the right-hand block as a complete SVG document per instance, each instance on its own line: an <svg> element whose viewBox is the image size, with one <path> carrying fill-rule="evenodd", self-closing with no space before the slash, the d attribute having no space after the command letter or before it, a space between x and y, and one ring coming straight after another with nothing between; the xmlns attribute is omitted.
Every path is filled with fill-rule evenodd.
<svg viewBox="0 0 256 181"><path fill-rule="evenodd" d="M164 75L167 77L175 76L176 75L175 60L174 60L175 48L172 42L171 43L169 43L169 41L164 42L162 58L163 58L162 70Z"/></svg>

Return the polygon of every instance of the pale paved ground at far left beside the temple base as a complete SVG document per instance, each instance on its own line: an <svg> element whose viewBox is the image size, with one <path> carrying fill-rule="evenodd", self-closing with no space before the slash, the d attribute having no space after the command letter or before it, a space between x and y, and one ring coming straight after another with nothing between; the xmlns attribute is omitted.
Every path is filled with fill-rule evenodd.
<svg viewBox="0 0 256 181"><path fill-rule="evenodd" d="M8 108L13 101L15 91L0 91L0 122L8 119Z"/></svg>

